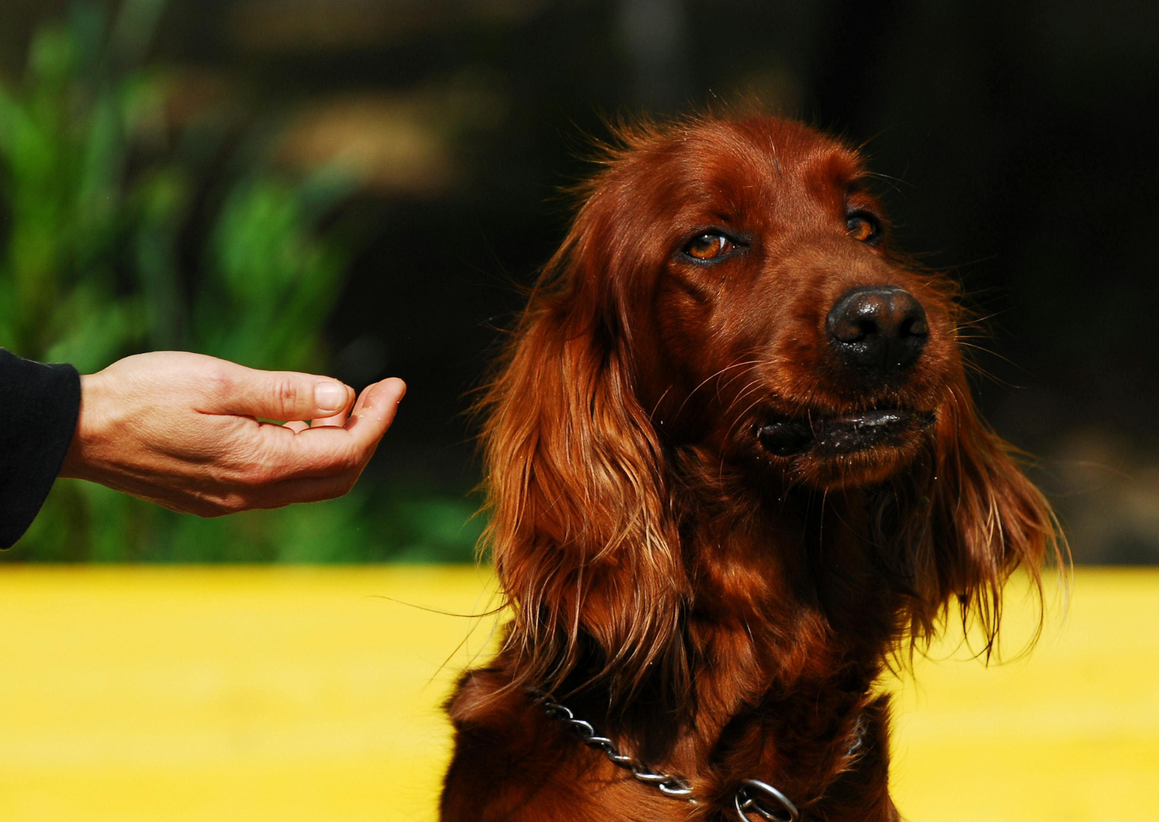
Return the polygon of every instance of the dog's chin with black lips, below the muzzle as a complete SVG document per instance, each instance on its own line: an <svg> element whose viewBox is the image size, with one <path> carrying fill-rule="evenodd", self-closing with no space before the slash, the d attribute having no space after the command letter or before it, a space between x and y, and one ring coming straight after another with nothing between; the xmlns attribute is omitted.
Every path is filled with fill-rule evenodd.
<svg viewBox="0 0 1159 822"><path fill-rule="evenodd" d="M756 425L768 461L818 488L881 482L917 457L933 412L874 408L807 417L770 415Z"/></svg>

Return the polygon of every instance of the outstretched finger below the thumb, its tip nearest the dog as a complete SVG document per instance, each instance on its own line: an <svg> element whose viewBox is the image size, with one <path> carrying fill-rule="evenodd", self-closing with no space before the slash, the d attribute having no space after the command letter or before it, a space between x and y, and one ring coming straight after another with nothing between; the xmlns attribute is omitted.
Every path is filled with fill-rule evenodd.
<svg viewBox="0 0 1159 822"><path fill-rule="evenodd" d="M362 471L386 429L394 422L406 390L401 379L387 379L369 386L342 428L311 428L296 437L278 436L279 431L271 431L270 427L260 428L268 481L337 477L349 471Z"/></svg>

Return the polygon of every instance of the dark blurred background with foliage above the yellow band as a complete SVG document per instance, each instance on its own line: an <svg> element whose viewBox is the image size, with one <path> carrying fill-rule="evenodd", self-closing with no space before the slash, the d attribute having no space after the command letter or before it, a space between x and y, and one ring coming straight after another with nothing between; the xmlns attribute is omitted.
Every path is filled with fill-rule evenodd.
<svg viewBox="0 0 1159 822"><path fill-rule="evenodd" d="M6 0L0 89L0 344L409 384L348 500L204 523L61 482L7 561L469 558L468 392L559 188L607 115L742 97L863 145L964 283L1076 560L1159 561L1157 3Z"/></svg>

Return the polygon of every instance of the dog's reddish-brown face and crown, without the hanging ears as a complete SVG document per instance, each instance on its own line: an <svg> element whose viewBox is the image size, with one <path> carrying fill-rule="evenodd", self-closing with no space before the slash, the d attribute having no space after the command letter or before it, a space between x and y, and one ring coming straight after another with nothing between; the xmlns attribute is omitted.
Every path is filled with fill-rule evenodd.
<svg viewBox="0 0 1159 822"><path fill-rule="evenodd" d="M962 384L954 286L895 254L867 182L854 152L771 118L636 134L598 177L576 286L630 337L666 442L819 488L914 459Z"/></svg>

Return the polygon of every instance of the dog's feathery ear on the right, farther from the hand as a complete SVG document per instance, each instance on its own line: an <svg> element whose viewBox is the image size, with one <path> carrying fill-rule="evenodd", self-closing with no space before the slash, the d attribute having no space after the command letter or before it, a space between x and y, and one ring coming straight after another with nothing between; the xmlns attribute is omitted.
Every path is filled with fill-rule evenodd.
<svg viewBox="0 0 1159 822"><path fill-rule="evenodd" d="M927 458L882 497L875 541L899 563L913 640L928 642L956 603L963 626L981 628L989 659L1009 575L1021 568L1041 601L1044 565L1062 563L1055 515L1013 452L978 419L963 378L938 410Z"/></svg>

